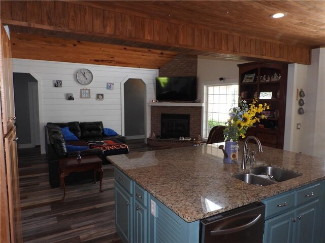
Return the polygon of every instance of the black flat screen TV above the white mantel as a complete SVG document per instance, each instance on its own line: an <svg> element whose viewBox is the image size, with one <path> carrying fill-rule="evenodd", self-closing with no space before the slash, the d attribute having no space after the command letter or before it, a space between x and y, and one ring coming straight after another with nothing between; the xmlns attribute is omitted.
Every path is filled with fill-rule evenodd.
<svg viewBox="0 0 325 243"><path fill-rule="evenodd" d="M195 101L197 77L156 77L158 101Z"/></svg>

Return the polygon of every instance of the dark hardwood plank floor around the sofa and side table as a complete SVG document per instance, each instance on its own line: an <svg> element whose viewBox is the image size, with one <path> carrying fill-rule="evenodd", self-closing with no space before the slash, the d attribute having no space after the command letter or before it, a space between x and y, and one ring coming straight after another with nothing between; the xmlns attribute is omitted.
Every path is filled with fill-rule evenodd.
<svg viewBox="0 0 325 243"><path fill-rule="evenodd" d="M165 149L129 140L130 152ZM18 150L23 242L121 242L115 229L114 168L104 165L103 189L92 180L51 188L46 154Z"/></svg>

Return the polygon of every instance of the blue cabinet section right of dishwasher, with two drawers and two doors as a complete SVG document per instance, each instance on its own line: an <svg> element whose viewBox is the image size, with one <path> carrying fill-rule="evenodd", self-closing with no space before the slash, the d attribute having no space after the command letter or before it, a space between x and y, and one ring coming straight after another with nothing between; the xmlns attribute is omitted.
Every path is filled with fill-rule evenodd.
<svg viewBox="0 0 325 243"><path fill-rule="evenodd" d="M262 200L266 205L264 243L325 242L320 235L324 215L324 181Z"/></svg>

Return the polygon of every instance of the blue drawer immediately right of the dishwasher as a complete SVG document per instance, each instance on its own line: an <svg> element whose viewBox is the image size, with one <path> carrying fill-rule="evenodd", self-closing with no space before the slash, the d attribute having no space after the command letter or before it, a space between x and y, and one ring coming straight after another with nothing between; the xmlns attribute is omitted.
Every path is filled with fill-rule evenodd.
<svg viewBox="0 0 325 243"><path fill-rule="evenodd" d="M263 200L265 204L265 218L284 212L295 206L295 192L285 193Z"/></svg>

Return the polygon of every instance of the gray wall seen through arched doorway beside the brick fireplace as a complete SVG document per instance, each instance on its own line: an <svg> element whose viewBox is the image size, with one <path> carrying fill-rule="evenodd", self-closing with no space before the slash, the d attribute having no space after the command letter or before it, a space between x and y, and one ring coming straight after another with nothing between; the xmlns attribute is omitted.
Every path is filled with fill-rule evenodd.
<svg viewBox="0 0 325 243"><path fill-rule="evenodd" d="M130 78L124 83L125 136L145 134L144 108L146 86L141 79Z"/></svg>

